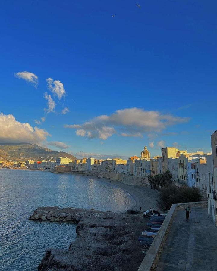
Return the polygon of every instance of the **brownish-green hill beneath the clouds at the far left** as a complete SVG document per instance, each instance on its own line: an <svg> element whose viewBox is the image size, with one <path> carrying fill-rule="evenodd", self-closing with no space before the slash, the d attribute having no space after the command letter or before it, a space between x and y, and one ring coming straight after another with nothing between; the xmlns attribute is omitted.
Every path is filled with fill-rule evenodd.
<svg viewBox="0 0 217 271"><path fill-rule="evenodd" d="M76 157L64 151L52 151L36 144L0 143L0 160L55 160L58 157L76 159Z"/></svg>

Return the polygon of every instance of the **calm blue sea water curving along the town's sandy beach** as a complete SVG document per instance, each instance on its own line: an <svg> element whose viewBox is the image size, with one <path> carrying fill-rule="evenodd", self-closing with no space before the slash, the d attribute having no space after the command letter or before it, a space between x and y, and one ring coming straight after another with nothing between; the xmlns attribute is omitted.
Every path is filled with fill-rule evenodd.
<svg viewBox="0 0 217 271"><path fill-rule="evenodd" d="M124 211L134 199L101 179L0 169L0 270L37 270L46 248L68 249L76 224L28 220L39 206Z"/></svg>

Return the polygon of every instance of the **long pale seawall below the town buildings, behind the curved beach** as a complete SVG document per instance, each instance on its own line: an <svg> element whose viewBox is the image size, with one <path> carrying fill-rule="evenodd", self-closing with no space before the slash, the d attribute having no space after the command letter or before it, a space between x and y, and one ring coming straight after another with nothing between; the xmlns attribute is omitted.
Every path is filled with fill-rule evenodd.
<svg viewBox="0 0 217 271"><path fill-rule="evenodd" d="M137 185L137 186L149 186L147 177L142 176L129 176L121 173L108 173L100 171L72 171L72 173L78 173L83 175L96 176L98 178L107 178L115 181L122 182L128 185Z"/></svg>

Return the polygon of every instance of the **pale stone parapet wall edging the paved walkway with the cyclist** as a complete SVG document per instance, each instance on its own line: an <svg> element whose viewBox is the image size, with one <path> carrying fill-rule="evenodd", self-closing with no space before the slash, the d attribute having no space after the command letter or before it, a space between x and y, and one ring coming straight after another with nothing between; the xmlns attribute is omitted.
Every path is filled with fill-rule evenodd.
<svg viewBox="0 0 217 271"><path fill-rule="evenodd" d="M138 271L155 271L158 262L163 251L164 245L166 243L167 236L169 234L173 219L177 211L185 210L188 206L193 208L208 208L207 201L198 202L185 202L173 204L159 229L152 245L150 246L144 260L142 261Z"/></svg>

